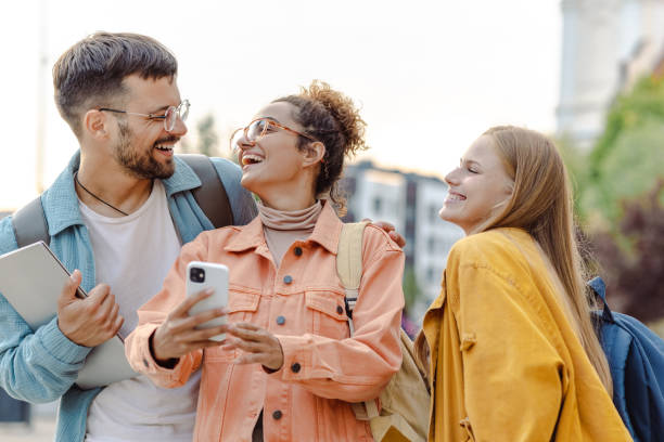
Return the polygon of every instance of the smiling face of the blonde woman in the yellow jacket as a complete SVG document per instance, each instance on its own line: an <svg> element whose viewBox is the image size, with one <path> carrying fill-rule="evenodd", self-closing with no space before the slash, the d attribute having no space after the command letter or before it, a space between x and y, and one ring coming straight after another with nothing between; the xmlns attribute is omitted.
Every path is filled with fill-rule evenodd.
<svg viewBox="0 0 664 442"><path fill-rule="evenodd" d="M445 177L449 192L438 214L465 234L498 213L512 194L513 181L493 143L490 136L480 136L465 151L459 167Z"/></svg>

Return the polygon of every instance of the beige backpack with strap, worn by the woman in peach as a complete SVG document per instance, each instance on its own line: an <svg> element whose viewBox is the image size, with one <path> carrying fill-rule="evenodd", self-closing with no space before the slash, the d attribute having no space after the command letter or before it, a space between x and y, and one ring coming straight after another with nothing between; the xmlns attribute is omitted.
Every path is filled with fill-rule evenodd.
<svg viewBox="0 0 664 442"><path fill-rule="evenodd" d="M366 222L344 224L339 239L336 273L346 290L346 314L350 335L353 309L359 295L362 276L362 235ZM429 433L430 393L423 370L414 359L412 341L400 329L403 362L399 370L376 401L354 403L353 411L359 420L369 420L371 433L376 442L425 441Z"/></svg>

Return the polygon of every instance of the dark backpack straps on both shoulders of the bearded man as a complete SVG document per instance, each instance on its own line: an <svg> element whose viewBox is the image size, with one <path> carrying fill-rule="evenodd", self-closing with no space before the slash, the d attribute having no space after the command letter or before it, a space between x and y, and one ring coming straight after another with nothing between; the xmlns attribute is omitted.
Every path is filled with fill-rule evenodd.
<svg viewBox="0 0 664 442"><path fill-rule="evenodd" d="M196 154L178 155L178 158L183 159L201 180L201 186L193 188L192 194L209 222L213 223L215 229L231 225L233 223L233 212L224 183L221 183L210 159ZM47 245L51 242L43 207L41 206L41 196L16 211L12 216L12 224L18 247L38 240L43 240Z"/></svg>

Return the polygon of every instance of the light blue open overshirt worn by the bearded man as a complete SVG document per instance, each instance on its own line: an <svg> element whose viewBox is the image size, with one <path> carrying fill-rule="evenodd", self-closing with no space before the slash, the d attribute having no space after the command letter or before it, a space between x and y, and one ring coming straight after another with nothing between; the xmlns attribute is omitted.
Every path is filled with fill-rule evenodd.
<svg viewBox="0 0 664 442"><path fill-rule="evenodd" d="M251 194L240 186L241 171L232 162L212 158L233 211L235 224L246 224L256 209ZM213 224L196 204L192 188L201 185L195 172L175 158L176 172L163 180L173 221L182 244L194 239ZM41 195L49 224L50 247L67 270L79 269L81 287L90 291L95 285L94 257L78 209L74 172L80 154L69 161L51 187ZM11 217L0 221L0 255L17 248ZM58 317L33 332L0 294L0 387L10 395L27 402L43 403L59 398L56 441L82 441L88 407L101 388L81 390L74 385L90 348L78 346L58 327Z"/></svg>

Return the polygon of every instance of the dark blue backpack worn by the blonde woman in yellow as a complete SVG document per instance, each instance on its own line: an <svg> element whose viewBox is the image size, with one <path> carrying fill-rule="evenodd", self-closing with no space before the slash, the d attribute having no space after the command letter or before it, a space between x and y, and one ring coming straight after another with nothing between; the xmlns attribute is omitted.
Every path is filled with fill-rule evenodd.
<svg viewBox="0 0 664 442"><path fill-rule="evenodd" d="M588 286L604 306L595 314L613 378L613 403L635 441L663 441L664 340L638 320L612 312L601 277Z"/></svg>

